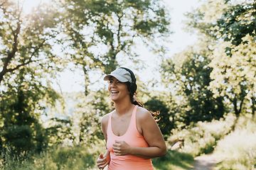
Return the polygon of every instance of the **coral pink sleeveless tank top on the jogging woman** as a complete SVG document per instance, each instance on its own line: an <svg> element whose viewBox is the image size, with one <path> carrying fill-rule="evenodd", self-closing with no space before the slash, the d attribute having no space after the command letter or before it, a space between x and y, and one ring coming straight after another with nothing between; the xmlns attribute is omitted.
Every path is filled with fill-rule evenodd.
<svg viewBox="0 0 256 170"><path fill-rule="evenodd" d="M144 159L132 154L124 156L114 155L112 145L115 140L127 142L131 147L149 147L144 137L138 132L136 113L138 106L134 106L127 131L122 136L114 135L112 131L112 113L109 115L107 125L107 150L110 151L109 170L153 170L151 159Z"/></svg>

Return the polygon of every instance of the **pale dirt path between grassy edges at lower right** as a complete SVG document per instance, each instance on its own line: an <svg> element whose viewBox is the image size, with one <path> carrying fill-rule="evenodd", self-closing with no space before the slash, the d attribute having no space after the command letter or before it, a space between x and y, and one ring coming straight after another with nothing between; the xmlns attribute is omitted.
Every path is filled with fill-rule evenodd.
<svg viewBox="0 0 256 170"><path fill-rule="evenodd" d="M194 170L213 170L217 159L212 154L202 155L195 158Z"/></svg>

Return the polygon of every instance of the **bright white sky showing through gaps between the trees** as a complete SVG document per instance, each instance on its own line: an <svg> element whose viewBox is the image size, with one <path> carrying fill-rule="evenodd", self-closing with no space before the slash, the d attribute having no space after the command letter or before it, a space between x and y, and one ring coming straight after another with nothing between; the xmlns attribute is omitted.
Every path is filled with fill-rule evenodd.
<svg viewBox="0 0 256 170"><path fill-rule="evenodd" d="M31 11L31 8L36 6L40 1L46 2L49 0L23 0L23 8L26 13ZM174 32L169 36L169 51L166 57L171 57L177 52L181 52L188 45L193 45L196 42L196 35L186 33L183 30L183 21L186 19L184 13L191 11L193 8L198 6L198 0L163 0L166 8L169 10L171 15L171 31ZM50 2L50 1L49 1ZM146 47L138 47L139 59L144 64L144 69L136 69L134 64L131 62L122 62L122 67L129 67L133 69L134 73L141 81L151 81L155 79L160 81L160 74L156 70L159 69L160 61ZM70 67L73 67L72 65ZM154 70L154 71L152 71ZM90 74L90 80L92 86L90 89L100 89L105 86L105 82L102 81L102 74L99 72L92 72ZM66 69L64 72L58 74L58 79L53 81L53 87L57 91L72 92L72 91L83 91L83 74L82 70L76 70L70 72Z"/></svg>

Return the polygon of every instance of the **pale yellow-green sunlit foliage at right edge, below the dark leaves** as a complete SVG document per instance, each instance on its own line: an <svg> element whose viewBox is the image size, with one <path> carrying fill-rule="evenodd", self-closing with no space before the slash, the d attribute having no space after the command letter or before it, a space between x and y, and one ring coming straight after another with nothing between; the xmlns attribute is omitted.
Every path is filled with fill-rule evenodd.
<svg viewBox="0 0 256 170"><path fill-rule="evenodd" d="M213 52L213 67L210 77L210 89L215 97L223 96L233 104L235 115L240 113L255 114L255 76L256 76L256 43L247 35L244 42L238 46L223 42ZM226 48L230 48L230 55Z"/></svg>

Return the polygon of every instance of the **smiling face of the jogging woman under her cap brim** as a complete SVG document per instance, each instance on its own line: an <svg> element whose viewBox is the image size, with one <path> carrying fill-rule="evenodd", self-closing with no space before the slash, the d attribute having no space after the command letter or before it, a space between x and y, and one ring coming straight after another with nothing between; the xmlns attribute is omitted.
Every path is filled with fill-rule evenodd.
<svg viewBox="0 0 256 170"><path fill-rule="evenodd" d="M112 101L122 100L122 98L129 98L129 91L125 83L120 82L118 79L111 77L108 81L108 91L110 91L110 98Z"/></svg>

